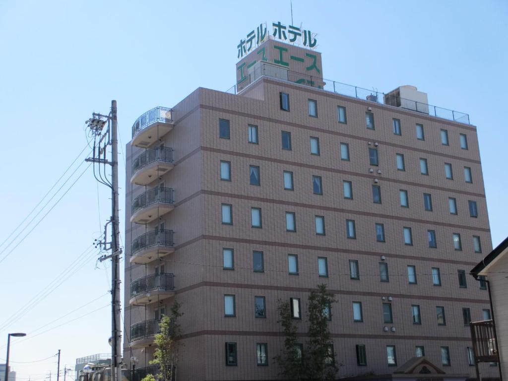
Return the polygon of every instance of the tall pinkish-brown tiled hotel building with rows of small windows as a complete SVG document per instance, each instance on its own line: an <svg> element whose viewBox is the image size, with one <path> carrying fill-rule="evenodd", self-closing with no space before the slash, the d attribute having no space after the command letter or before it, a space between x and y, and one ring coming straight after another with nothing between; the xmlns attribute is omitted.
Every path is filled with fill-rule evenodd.
<svg viewBox="0 0 508 381"><path fill-rule="evenodd" d="M477 129L401 86L323 79L321 54L268 39L234 91L198 88L136 120L127 145L124 360L149 367L182 304L177 378L279 379L278 301L306 340L327 285L337 377L425 356L474 375L467 275L491 247ZM497 376L486 366L483 376Z"/></svg>

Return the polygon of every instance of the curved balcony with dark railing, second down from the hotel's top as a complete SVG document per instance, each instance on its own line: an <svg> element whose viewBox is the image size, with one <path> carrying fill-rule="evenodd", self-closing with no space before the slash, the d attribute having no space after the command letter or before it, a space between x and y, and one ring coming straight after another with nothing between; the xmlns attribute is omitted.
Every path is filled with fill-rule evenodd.
<svg viewBox="0 0 508 381"><path fill-rule="evenodd" d="M137 155L132 162L131 183L147 185L171 171L173 167L173 148L155 147L147 149Z"/></svg>

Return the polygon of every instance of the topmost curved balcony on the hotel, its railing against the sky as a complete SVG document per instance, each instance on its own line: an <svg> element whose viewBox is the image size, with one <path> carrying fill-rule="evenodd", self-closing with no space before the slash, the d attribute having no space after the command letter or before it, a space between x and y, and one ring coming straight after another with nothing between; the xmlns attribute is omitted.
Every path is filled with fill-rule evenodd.
<svg viewBox="0 0 508 381"><path fill-rule="evenodd" d="M173 126L173 110L167 107L155 107L134 122L131 145L147 148L173 130Z"/></svg>

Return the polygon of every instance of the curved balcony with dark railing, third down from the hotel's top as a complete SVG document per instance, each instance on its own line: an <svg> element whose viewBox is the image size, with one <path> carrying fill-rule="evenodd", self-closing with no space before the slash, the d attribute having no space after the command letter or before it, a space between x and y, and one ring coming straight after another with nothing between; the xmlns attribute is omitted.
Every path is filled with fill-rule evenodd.
<svg viewBox="0 0 508 381"><path fill-rule="evenodd" d="M147 224L155 218L172 211L174 206L173 188L154 187L132 200L131 222Z"/></svg>

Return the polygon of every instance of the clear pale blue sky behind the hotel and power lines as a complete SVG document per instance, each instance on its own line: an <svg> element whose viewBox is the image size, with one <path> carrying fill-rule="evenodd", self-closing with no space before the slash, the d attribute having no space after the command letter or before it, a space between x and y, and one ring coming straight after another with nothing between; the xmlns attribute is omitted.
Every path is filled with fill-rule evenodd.
<svg viewBox="0 0 508 381"><path fill-rule="evenodd" d="M508 3L294 0L293 13L295 24L318 34L325 78L379 91L416 85L429 103L469 113L478 126L493 244L506 237ZM289 0L0 2L0 242L85 146L83 122L92 111L107 113L116 99L125 144L148 109L174 106L198 86L230 88L240 38L260 22L279 20L291 23ZM0 260L59 195L7 251L10 240L0 246ZM0 359L8 332L28 333L11 347L20 381L43 380L50 371L54 378L56 361L15 361L61 349L62 367L73 367L77 357L110 351L109 270L94 268L92 252L79 257L109 216L108 197L100 188L99 215L96 182L87 171L0 263ZM78 258L76 271L66 271ZM71 277L59 277L62 272ZM61 284L48 294L54 280Z"/></svg>

